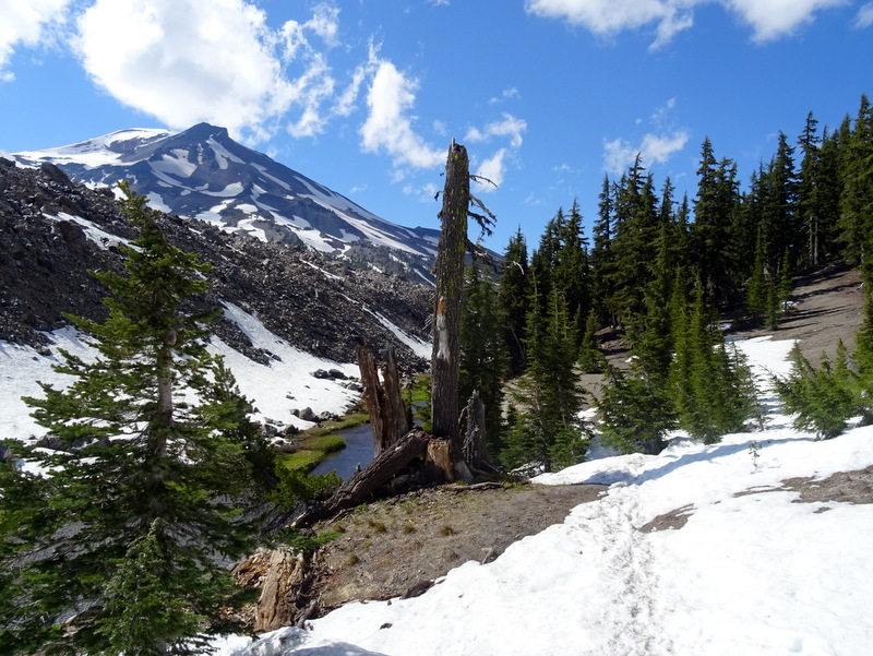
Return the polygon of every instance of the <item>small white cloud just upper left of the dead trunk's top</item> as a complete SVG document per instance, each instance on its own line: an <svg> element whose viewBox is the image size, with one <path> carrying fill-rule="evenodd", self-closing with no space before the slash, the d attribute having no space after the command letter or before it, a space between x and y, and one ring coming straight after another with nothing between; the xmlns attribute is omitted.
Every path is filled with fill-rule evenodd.
<svg viewBox="0 0 873 656"><path fill-rule="evenodd" d="M430 168L443 164L445 154L416 133L409 109L415 105L417 82L406 77L390 61L380 61L367 94L370 114L361 126L366 152L386 152L394 166Z"/></svg>

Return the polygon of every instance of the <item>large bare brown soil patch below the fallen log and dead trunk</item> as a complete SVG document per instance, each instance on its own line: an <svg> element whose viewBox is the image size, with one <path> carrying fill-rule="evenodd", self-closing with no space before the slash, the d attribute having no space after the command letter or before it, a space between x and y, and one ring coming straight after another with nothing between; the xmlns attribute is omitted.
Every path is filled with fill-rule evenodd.
<svg viewBox="0 0 873 656"><path fill-rule="evenodd" d="M414 596L469 560L489 562L512 542L564 521L606 486L444 486L363 505L319 526L338 532L320 564L321 606Z"/></svg>

